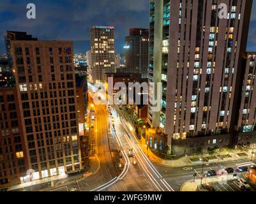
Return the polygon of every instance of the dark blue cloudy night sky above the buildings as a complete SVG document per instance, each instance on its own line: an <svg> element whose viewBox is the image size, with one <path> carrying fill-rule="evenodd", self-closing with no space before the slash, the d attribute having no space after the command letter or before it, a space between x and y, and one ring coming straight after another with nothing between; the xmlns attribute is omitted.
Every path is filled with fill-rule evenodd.
<svg viewBox="0 0 256 204"><path fill-rule="evenodd" d="M36 19L26 18L28 3L36 4ZM252 10L248 51L256 51L255 1ZM0 0L0 54L6 52L6 30L27 31L39 40L72 40L75 52L86 52L93 25L113 25L116 52L123 54L128 30L149 27L149 0Z"/></svg>

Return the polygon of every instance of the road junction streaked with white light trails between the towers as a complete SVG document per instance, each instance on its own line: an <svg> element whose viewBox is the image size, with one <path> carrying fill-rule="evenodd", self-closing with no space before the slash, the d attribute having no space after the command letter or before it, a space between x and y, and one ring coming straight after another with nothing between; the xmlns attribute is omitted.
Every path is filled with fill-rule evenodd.
<svg viewBox="0 0 256 204"><path fill-rule="evenodd" d="M89 85L89 89L91 92L96 91L96 87L92 85ZM112 115L107 112L105 104L93 107L96 120L90 133L94 141L91 146L91 149L93 148L91 157L98 156L100 161L100 169L96 174L86 179L81 179L81 175L74 175L56 181L55 187L50 187L50 183L47 183L23 190L38 191L47 187L45 191L179 191L184 182L193 179L194 173L197 173L199 178L201 165L184 170L184 168L169 168L151 163L140 148L129 118L125 117L118 106L110 107ZM114 143L123 156L122 169L117 168L112 159L110 143L111 145ZM129 157L128 152L131 152L134 158ZM137 164L133 164L134 161ZM237 164L244 162L246 161L206 164L204 171L219 170L223 167L236 168Z"/></svg>

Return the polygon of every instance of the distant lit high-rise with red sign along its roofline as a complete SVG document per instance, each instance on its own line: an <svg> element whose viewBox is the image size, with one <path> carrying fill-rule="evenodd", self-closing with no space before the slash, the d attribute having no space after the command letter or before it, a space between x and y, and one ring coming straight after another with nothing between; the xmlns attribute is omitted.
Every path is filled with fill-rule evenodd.
<svg viewBox="0 0 256 204"><path fill-rule="evenodd" d="M91 28L91 60L93 82L103 82L104 73L115 73L114 27Z"/></svg>

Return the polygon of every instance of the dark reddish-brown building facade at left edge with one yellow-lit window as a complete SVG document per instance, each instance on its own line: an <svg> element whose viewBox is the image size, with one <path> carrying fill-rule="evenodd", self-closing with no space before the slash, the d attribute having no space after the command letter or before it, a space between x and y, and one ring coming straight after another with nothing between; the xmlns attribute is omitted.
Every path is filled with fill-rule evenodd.
<svg viewBox="0 0 256 204"><path fill-rule="evenodd" d="M0 86L0 187L19 184L29 169L15 85Z"/></svg>

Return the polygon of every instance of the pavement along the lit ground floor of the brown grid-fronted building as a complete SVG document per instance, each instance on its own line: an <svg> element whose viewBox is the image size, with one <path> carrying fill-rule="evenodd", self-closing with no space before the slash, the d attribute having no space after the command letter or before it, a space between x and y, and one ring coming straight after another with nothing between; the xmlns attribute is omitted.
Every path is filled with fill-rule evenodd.
<svg viewBox="0 0 256 204"><path fill-rule="evenodd" d="M98 157L90 157L90 168L89 170L84 173L84 175L94 175L98 172L98 170L100 170L100 161L98 159ZM68 181L65 182L65 180L68 179ZM47 184L49 182L51 182L51 186L50 187L54 187L57 184L61 184L62 182L68 183L68 182L74 182L77 180L81 180L82 179L82 174L79 175L73 175L73 176L68 176L67 174L63 174L63 175L56 175L56 176L52 176L52 177L47 177L45 179L38 179L38 180L33 180L31 182L25 182L23 184L17 184L17 185L13 185L8 187L8 191L15 191L17 189L22 189L22 188L26 188L26 187L30 187L30 186L36 186L36 185L42 185L44 186L44 184ZM43 190L43 189L41 189Z"/></svg>

